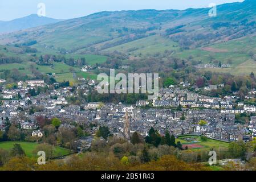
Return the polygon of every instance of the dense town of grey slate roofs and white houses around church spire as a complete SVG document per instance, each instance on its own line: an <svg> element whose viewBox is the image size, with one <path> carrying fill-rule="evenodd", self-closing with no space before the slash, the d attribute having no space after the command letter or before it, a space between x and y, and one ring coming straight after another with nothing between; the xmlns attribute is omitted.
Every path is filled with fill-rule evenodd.
<svg viewBox="0 0 256 182"><path fill-rule="evenodd" d="M256 137L256 107L247 104L247 100L255 99L256 90L250 90L241 101L235 92L223 98L209 97L199 94L200 89L189 82L180 82L161 88L153 100L139 100L134 105L86 101L78 105L70 98L90 94L97 88L96 81L84 79L75 89L56 82L54 88L40 93L35 90L50 88L43 80L19 81L13 88L5 80L1 82L0 129L5 131L7 119L18 124L28 137L43 137L45 131L38 123L39 116L59 118L62 121L59 127L67 129L78 124L92 126L86 130L88 137L79 139L80 142L89 140L85 148L90 147L91 136L100 126L128 140L135 132L147 136L151 127L160 135L168 130L175 137L204 135L226 142L247 142ZM202 90L211 92L222 87L224 84L209 85ZM191 92L191 88L196 91Z"/></svg>

